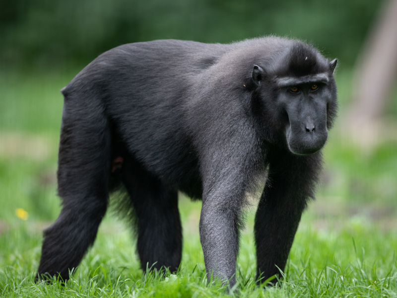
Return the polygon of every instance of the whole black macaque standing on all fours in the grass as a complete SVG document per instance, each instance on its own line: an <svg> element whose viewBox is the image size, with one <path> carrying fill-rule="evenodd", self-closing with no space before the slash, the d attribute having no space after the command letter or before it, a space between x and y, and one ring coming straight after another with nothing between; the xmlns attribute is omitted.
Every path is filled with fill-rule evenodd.
<svg viewBox="0 0 397 298"><path fill-rule="evenodd" d="M314 196L337 109L335 66L306 43L277 37L157 40L100 55L62 90L63 209L44 232L39 276L68 278L119 180L137 218L143 269L181 262L180 190L202 198L207 275L232 286L243 207L265 176L257 274L277 274Z"/></svg>

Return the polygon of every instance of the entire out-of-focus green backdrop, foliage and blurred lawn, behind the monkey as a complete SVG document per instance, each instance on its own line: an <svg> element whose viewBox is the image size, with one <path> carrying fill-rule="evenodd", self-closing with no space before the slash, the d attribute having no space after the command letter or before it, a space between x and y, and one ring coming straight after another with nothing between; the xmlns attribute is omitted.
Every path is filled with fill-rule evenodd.
<svg viewBox="0 0 397 298"><path fill-rule="evenodd" d="M35 234L38 256L40 233L60 211L55 176L60 89L95 57L138 41L230 43L269 34L303 39L339 61L340 117L324 150L317 201L300 231L347 229L354 235L364 228L363 239L374 231L396 231L396 138L363 146L343 133L357 88L357 58L380 5L379 0L0 0L0 236L23 225ZM380 121L397 130L396 87ZM181 196L180 206L185 231L198 240L200 203ZM28 213L27 221L17 217L17 208ZM108 217L105 226L122 229L114 221ZM12 241L9 237L4 239ZM5 252L1 260L7 263Z"/></svg>

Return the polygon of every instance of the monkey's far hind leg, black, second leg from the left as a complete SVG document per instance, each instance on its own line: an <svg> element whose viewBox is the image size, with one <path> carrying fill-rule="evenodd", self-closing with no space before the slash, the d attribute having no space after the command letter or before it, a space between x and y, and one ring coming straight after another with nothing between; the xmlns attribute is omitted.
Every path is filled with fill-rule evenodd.
<svg viewBox="0 0 397 298"><path fill-rule="evenodd" d="M137 252L143 271L147 268L179 268L182 258L182 226L178 192L126 160L123 183L132 200L137 220Z"/></svg>

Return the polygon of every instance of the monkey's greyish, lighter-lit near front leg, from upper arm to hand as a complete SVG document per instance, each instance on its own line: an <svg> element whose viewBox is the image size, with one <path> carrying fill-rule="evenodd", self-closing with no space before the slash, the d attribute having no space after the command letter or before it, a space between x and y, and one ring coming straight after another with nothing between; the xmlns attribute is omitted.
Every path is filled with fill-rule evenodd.
<svg viewBox="0 0 397 298"><path fill-rule="evenodd" d="M205 144L200 160L203 193L199 230L207 277L219 278L230 287L236 283L242 207L247 192L255 189L256 178L264 171L259 138L252 127L245 126L247 123L224 125L231 131L219 133L223 139L212 136L216 142ZM205 136L205 140L210 137Z"/></svg>

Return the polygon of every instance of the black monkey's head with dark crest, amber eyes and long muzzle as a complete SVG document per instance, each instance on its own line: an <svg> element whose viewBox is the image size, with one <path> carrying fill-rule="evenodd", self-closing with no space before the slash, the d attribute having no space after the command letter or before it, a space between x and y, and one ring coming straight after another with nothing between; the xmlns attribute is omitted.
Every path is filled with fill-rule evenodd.
<svg viewBox="0 0 397 298"><path fill-rule="evenodd" d="M336 115L336 85L331 62L301 42L267 66L254 65L252 80L261 104L265 135L283 138L295 154L322 149Z"/></svg>

